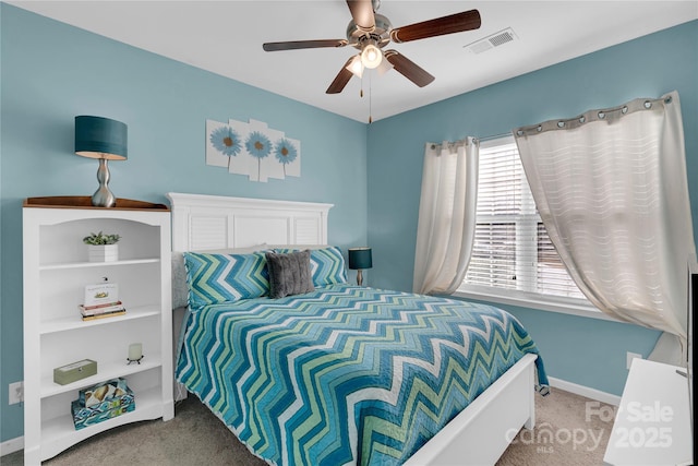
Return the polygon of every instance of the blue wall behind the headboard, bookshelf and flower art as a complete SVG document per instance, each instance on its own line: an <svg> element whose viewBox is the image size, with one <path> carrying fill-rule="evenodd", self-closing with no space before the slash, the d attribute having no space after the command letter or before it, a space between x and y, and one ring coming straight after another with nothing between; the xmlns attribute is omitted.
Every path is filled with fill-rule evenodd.
<svg viewBox="0 0 698 466"><path fill-rule="evenodd" d="M91 195L97 162L74 155L73 118L129 126L129 159L111 163L117 196L168 191L335 204L329 241L366 241L366 128L24 10L1 4L0 441L23 434L8 384L22 371L22 201ZM301 142L301 177L249 181L205 165L205 121L255 119Z"/></svg>

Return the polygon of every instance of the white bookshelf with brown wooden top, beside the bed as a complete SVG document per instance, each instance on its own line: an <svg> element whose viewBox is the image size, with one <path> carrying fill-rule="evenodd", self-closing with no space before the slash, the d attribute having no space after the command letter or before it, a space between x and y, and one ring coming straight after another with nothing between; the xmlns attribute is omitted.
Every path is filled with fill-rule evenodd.
<svg viewBox="0 0 698 466"><path fill-rule="evenodd" d="M75 443L117 426L169 420L172 397L170 212L160 204L119 200L97 208L88 198L33 198L23 208L24 461L38 465ZM121 236L119 260L88 262L82 238ZM123 315L83 321L84 286L119 284ZM129 345L144 358L128 363ZM53 369L83 359L97 374L59 385ZM71 402L81 389L123 378L135 409L76 430Z"/></svg>

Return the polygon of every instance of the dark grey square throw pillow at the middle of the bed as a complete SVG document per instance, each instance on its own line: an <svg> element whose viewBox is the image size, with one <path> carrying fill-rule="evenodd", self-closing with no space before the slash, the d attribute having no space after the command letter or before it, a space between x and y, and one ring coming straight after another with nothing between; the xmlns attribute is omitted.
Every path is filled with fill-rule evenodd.
<svg viewBox="0 0 698 466"><path fill-rule="evenodd" d="M302 295L314 290L310 273L310 251L278 254L266 253L266 266L269 273L269 298Z"/></svg>

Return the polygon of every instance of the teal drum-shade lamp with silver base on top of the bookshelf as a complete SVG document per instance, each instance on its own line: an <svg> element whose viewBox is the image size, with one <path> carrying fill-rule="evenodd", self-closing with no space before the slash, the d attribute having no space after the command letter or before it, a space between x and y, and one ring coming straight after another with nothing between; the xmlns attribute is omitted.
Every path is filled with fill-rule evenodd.
<svg viewBox="0 0 698 466"><path fill-rule="evenodd" d="M75 117L75 154L99 159L97 181L99 188L92 196L92 205L113 207L117 198L109 191L107 160L125 160L128 157L128 127L121 121L103 117Z"/></svg>

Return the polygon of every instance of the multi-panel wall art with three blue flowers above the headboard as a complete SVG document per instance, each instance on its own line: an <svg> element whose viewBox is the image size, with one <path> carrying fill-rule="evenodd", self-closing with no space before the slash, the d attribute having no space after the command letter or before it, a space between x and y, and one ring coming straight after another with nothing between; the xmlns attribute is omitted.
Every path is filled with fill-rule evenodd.
<svg viewBox="0 0 698 466"><path fill-rule="evenodd" d="M300 177L301 143L262 121L206 120L206 165L246 175L250 181Z"/></svg>

